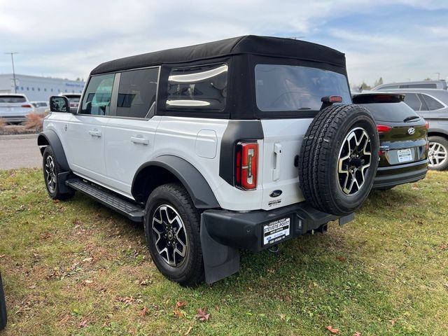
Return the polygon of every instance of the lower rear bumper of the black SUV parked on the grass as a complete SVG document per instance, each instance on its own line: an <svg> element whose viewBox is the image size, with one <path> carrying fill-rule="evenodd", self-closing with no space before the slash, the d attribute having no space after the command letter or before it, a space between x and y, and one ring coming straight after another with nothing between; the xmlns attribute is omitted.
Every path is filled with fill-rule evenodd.
<svg viewBox="0 0 448 336"><path fill-rule="evenodd" d="M378 167L373 188L398 186L424 179L428 172L428 160L411 162L405 165Z"/></svg>

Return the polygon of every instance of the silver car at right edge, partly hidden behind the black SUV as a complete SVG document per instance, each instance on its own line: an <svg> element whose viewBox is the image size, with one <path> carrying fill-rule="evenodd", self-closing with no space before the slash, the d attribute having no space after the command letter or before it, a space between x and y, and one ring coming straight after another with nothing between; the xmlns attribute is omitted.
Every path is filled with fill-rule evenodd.
<svg viewBox="0 0 448 336"><path fill-rule="evenodd" d="M448 91L388 90L405 94L405 103L429 122L429 169L448 169Z"/></svg>

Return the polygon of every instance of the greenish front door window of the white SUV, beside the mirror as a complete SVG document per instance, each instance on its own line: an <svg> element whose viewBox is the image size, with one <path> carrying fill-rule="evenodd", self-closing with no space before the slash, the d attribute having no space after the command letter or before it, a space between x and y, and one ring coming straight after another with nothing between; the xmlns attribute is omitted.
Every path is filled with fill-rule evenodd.
<svg viewBox="0 0 448 336"><path fill-rule="evenodd" d="M109 116L115 73L92 76L83 97L80 114L92 116Z"/></svg>

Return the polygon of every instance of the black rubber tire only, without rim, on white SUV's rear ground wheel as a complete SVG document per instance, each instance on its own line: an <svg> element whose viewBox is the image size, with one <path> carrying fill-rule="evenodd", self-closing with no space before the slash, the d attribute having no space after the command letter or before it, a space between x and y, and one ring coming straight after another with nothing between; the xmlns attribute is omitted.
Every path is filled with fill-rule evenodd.
<svg viewBox="0 0 448 336"><path fill-rule="evenodd" d="M164 205L174 208L179 214L185 228L186 241L188 241L186 257L184 257L183 263L176 267L169 265L162 258L155 245L158 234L153 230L153 217L155 211ZM195 208L190 195L181 184L168 183L153 190L146 202L144 227L146 243L151 257L163 275L181 284L181 286L196 286L204 281L204 260L202 259L200 240L200 211Z"/></svg>

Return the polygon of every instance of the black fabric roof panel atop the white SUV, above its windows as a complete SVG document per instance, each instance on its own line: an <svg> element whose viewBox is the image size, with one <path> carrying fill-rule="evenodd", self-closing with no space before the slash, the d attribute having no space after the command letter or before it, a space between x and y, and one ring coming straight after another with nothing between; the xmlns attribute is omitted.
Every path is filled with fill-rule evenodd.
<svg viewBox="0 0 448 336"><path fill-rule="evenodd" d="M323 45L297 41L291 38L246 35L115 59L99 64L92 70L91 74L123 71L159 64L195 62L202 59L241 54L302 59L345 67L344 54Z"/></svg>

